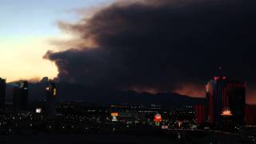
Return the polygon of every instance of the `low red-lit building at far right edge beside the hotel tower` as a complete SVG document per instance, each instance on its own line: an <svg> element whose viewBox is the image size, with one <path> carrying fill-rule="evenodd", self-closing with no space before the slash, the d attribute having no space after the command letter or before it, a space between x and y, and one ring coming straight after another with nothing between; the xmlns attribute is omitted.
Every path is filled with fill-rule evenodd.
<svg viewBox="0 0 256 144"><path fill-rule="evenodd" d="M246 106L246 124L256 125L256 105Z"/></svg>

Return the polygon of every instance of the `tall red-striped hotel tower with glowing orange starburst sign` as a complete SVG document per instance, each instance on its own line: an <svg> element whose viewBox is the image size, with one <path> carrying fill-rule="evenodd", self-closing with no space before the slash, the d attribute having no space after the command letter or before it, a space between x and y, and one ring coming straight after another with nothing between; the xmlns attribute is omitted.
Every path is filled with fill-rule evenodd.
<svg viewBox="0 0 256 144"><path fill-rule="evenodd" d="M206 116L210 123L220 125L230 117L234 124L244 123L246 106L245 82L214 77L206 85Z"/></svg>

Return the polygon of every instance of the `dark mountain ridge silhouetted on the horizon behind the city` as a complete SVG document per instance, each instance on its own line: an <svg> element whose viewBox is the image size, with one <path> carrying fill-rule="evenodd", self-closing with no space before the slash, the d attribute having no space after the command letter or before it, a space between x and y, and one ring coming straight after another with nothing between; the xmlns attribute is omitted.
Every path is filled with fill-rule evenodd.
<svg viewBox="0 0 256 144"><path fill-rule="evenodd" d="M12 99L12 84L8 84L7 99ZM58 83L58 100L59 101L83 101L92 103L104 103L104 104L162 104L170 107L193 105L195 103L202 103L204 98L190 98L188 96L174 94L174 93L137 93L132 90L112 90L107 88L92 88L82 86L80 84L71 84L61 82ZM46 83L38 82L30 84L29 86L29 101L36 102L38 100L44 100L46 95Z"/></svg>

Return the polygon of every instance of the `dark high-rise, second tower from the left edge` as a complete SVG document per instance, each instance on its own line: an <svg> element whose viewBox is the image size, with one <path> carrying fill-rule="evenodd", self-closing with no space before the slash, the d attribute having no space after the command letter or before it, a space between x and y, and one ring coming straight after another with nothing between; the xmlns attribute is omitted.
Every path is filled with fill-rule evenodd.
<svg viewBox="0 0 256 144"><path fill-rule="evenodd" d="M28 106L28 82L21 81L14 86L13 105L14 111L20 112Z"/></svg>

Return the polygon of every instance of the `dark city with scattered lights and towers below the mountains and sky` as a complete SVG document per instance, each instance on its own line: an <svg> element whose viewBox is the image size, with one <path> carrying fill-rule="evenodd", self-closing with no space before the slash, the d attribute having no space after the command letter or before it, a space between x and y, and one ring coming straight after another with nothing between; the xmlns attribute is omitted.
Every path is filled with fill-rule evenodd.
<svg viewBox="0 0 256 144"><path fill-rule="evenodd" d="M58 102L58 84L48 79L43 84L45 100L30 103L29 83L15 82L8 103L6 79L0 78L0 135L163 134L185 142L190 134L216 133L255 142L256 106L246 105L246 82L239 80L214 77L204 102L182 108Z"/></svg>

